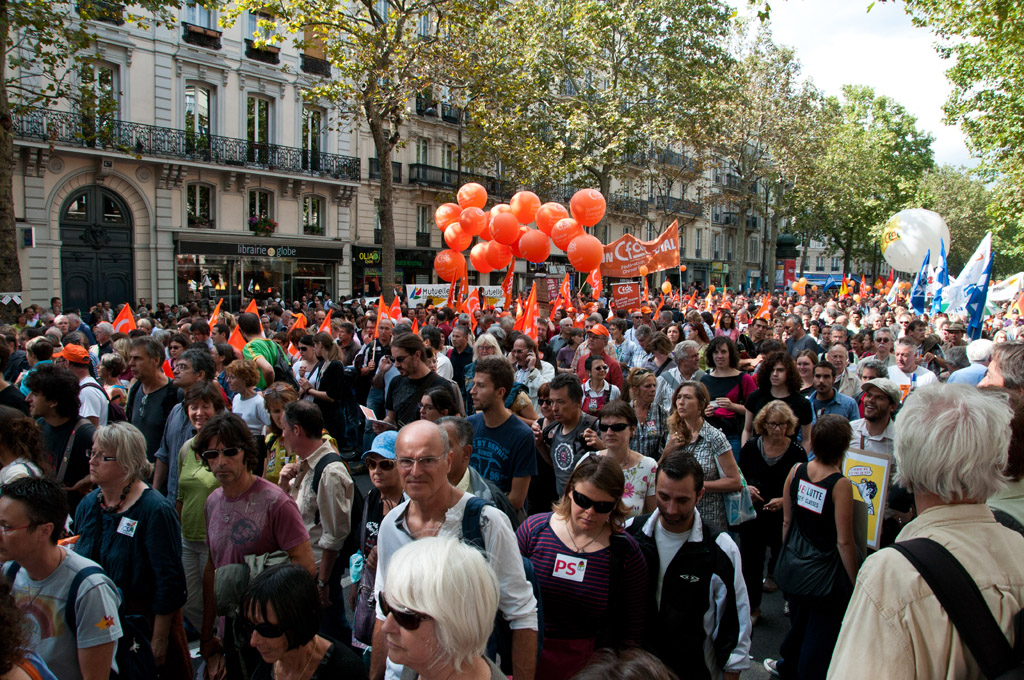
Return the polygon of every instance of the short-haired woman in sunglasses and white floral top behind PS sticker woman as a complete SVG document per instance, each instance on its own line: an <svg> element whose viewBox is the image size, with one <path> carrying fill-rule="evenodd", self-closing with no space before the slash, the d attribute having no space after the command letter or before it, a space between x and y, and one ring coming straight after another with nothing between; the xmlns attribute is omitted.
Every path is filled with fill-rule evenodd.
<svg viewBox="0 0 1024 680"><path fill-rule="evenodd" d="M657 473L657 461L643 456L630 449L633 433L637 429L637 416L622 399L615 399L604 405L597 422L597 433L600 442L591 445L606 447L598 452L598 456L609 456L623 469L626 477L626 487L623 492L623 503L629 508L629 515L636 517L645 512L653 512L657 503L654 498L654 476ZM587 443L591 443L588 440Z"/></svg>

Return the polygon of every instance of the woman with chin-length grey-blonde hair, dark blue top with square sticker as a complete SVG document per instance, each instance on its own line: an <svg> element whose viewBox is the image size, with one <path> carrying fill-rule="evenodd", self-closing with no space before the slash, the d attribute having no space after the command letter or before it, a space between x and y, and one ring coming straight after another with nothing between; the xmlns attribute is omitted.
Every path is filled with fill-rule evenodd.
<svg viewBox="0 0 1024 680"><path fill-rule="evenodd" d="M145 482L153 474L145 437L134 425L111 423L96 430L87 453L98 488L75 511L75 552L103 567L126 614L146 620L160 677L190 677L181 526L174 506Z"/></svg>

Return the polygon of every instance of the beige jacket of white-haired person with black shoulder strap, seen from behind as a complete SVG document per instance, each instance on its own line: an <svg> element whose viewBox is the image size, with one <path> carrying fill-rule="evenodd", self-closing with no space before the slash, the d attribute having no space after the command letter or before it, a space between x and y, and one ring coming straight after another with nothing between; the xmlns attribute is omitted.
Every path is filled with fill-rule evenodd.
<svg viewBox="0 0 1024 680"><path fill-rule="evenodd" d="M985 505L929 508L897 541L929 538L974 577L1013 644L1013 618L1024 608L1024 537L996 523ZM857 575L828 678L981 678L981 671L938 599L895 550L880 550Z"/></svg>

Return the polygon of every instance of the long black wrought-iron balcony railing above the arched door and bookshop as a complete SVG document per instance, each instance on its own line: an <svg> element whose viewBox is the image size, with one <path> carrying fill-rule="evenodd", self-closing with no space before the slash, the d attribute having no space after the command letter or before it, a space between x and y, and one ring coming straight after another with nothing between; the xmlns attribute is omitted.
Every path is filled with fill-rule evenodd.
<svg viewBox="0 0 1024 680"><path fill-rule="evenodd" d="M251 142L191 130L126 123L82 116L75 112L33 109L16 114L14 135L70 146L113 148L137 156L199 161L259 168L272 172L318 175L359 181L359 159L310 152L294 146ZM92 131L92 134L89 132Z"/></svg>

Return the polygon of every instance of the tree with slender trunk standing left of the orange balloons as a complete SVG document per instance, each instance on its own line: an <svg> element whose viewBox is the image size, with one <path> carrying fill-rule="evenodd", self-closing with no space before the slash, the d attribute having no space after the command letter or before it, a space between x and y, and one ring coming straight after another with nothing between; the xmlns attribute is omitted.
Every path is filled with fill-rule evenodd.
<svg viewBox="0 0 1024 680"><path fill-rule="evenodd" d="M334 78L303 93L326 102L339 122L366 124L380 163L378 216L383 280L394 281L391 153L402 143L409 102L434 87L459 87L472 66L472 36L492 0L240 0L224 8L229 24L243 11L261 15L257 46L294 36L298 47L325 50ZM394 291L384 287L390 303Z"/></svg>

